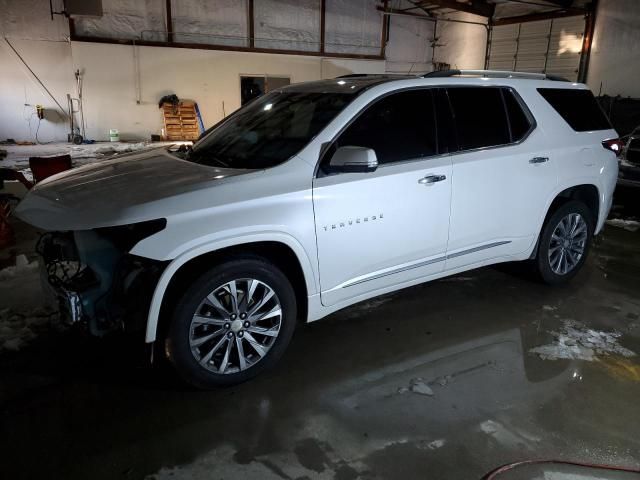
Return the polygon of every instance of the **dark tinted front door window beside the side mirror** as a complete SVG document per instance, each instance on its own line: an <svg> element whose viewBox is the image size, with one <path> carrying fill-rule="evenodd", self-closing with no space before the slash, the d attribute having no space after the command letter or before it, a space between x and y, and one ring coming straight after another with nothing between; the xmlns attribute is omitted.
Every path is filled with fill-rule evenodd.
<svg viewBox="0 0 640 480"><path fill-rule="evenodd" d="M430 90L394 93L369 106L340 135L338 147L372 148L380 164L437 153Z"/></svg>

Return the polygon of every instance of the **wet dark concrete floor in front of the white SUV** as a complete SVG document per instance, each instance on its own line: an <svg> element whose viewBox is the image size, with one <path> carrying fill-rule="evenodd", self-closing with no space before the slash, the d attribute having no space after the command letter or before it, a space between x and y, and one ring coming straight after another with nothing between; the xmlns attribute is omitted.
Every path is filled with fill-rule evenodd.
<svg viewBox="0 0 640 480"><path fill-rule="evenodd" d="M45 332L0 355L2 476L479 479L546 458L638 468L639 357L530 349L572 319L640 353L639 240L607 227L566 287L485 268L359 304L299 328L274 370L213 392L146 367L123 340Z"/></svg>

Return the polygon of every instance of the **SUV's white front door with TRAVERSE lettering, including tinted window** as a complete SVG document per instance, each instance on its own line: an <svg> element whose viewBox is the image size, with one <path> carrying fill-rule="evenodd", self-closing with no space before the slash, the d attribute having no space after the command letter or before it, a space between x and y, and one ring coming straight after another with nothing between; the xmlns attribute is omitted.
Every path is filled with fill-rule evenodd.
<svg viewBox="0 0 640 480"><path fill-rule="evenodd" d="M377 100L333 146L347 145L372 148L379 167L369 173L320 173L314 180L326 306L441 272L447 248L451 163L438 155L431 91L407 90Z"/></svg>

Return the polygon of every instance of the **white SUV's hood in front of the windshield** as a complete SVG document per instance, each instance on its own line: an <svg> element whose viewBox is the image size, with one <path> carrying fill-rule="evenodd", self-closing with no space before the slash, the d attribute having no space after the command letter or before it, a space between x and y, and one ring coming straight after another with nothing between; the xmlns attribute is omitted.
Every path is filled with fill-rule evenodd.
<svg viewBox="0 0 640 480"><path fill-rule="evenodd" d="M38 183L15 215L44 230L85 230L161 218L160 200L250 172L181 160L164 148L57 174Z"/></svg>

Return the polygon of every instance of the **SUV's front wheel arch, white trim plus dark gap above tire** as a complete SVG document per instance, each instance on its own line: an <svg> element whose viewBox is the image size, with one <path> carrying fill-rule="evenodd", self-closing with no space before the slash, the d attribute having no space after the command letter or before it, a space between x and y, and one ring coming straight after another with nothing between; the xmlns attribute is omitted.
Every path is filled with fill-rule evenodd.
<svg viewBox="0 0 640 480"><path fill-rule="evenodd" d="M308 296L317 293L314 269L303 247L289 235L256 235L233 243L194 248L175 258L162 273L153 293L145 341L154 342L167 326L171 300L183 281L195 278L221 260L238 255L257 255L273 262L291 280L298 303L298 317L306 320Z"/></svg>

